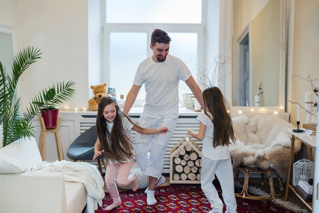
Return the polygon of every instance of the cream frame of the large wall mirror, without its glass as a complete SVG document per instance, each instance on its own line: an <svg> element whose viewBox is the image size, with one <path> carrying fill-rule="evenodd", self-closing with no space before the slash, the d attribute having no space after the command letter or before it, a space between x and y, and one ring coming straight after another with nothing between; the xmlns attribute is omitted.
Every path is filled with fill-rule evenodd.
<svg viewBox="0 0 319 213"><path fill-rule="evenodd" d="M234 60L232 58L233 41L233 1L226 2L226 57L232 63L226 63L226 73L232 73ZM237 107L232 105L232 74L226 76L226 98L231 112L285 112L285 63L286 63L286 3L280 1L280 59L279 59L279 105L277 107Z"/></svg>

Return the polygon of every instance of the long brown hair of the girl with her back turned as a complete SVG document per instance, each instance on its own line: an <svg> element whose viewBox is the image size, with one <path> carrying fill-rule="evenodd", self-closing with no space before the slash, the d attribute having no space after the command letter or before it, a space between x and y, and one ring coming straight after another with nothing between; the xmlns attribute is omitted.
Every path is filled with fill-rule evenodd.
<svg viewBox="0 0 319 213"><path fill-rule="evenodd" d="M227 112L228 103L218 87L210 87L203 91L204 113L214 123L214 147L224 146L235 142L232 120ZM227 109L226 109L227 108ZM212 117L208 115L210 112Z"/></svg>

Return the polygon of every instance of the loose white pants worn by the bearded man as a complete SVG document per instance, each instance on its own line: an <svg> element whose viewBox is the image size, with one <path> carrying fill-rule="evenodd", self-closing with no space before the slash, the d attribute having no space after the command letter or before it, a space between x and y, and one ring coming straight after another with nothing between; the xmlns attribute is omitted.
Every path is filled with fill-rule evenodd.
<svg viewBox="0 0 319 213"><path fill-rule="evenodd" d="M141 170L148 176L159 177L162 175L164 166L164 154L166 147L171 141L176 127L177 119L168 117L150 118L141 115L139 125L143 128L168 127L167 134L142 135L136 134L135 149L136 161Z"/></svg>

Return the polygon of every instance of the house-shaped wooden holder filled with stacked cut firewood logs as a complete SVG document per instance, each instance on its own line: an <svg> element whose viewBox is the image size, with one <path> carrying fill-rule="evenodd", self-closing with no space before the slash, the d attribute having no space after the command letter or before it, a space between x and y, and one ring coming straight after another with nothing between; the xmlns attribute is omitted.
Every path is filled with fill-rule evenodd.
<svg viewBox="0 0 319 213"><path fill-rule="evenodd" d="M201 149L185 136L171 150L170 182L200 183Z"/></svg>

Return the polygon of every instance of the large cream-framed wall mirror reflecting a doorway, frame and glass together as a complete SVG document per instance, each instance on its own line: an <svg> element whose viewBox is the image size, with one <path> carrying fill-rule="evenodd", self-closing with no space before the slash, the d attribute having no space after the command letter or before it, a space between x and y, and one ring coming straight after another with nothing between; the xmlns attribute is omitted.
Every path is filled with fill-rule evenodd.
<svg viewBox="0 0 319 213"><path fill-rule="evenodd" d="M285 0L229 0L226 20L232 110L284 112Z"/></svg>

